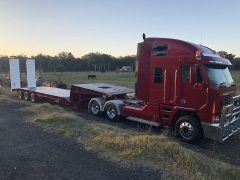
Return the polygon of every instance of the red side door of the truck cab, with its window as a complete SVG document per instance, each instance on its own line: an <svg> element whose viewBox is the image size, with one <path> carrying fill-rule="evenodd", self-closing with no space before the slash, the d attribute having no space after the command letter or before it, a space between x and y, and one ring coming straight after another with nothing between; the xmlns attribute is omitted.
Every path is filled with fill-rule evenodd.
<svg viewBox="0 0 240 180"><path fill-rule="evenodd" d="M205 86L201 66L198 64L181 65L180 77L181 106L195 109L203 107L207 102L207 86Z"/></svg>

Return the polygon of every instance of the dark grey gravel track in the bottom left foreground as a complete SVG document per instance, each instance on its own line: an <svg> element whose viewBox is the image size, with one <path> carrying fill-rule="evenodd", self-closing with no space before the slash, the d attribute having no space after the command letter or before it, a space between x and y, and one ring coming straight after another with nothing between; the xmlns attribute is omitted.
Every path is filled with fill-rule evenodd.
<svg viewBox="0 0 240 180"><path fill-rule="evenodd" d="M0 179L161 179L161 172L124 168L86 152L74 140L26 121L21 102L0 102ZM29 114L28 114L29 116Z"/></svg>

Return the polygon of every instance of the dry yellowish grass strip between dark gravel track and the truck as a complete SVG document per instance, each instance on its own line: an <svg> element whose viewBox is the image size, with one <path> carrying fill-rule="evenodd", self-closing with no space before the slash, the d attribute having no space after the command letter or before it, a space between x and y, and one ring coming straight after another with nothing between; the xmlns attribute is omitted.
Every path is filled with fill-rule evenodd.
<svg viewBox="0 0 240 180"><path fill-rule="evenodd" d="M240 168L181 146L164 133L123 128L85 113L67 111L48 103L25 108L30 121L45 130L74 138L103 158L124 166L141 165L163 171L170 179L239 179Z"/></svg>

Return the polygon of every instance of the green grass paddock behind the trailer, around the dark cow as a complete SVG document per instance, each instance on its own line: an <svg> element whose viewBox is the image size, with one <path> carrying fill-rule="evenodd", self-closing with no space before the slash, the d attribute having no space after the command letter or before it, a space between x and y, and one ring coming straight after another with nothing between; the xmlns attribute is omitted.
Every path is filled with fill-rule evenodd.
<svg viewBox="0 0 240 180"><path fill-rule="evenodd" d="M89 74L96 74L96 79L88 80ZM240 94L240 71L231 72L235 83L237 84L237 94ZM45 80L56 81L60 73L43 73L42 77ZM105 82L109 84L115 84L124 87L134 88L135 85L135 73L134 72L64 72L60 79L67 84L68 87L71 84L80 84L80 83L96 83L96 82Z"/></svg>

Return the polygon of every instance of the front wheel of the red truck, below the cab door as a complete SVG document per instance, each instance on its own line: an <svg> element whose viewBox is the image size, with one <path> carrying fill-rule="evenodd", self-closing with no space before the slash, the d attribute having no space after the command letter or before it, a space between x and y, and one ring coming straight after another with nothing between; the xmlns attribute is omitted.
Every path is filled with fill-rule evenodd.
<svg viewBox="0 0 240 180"><path fill-rule="evenodd" d="M175 135L187 143L195 143L201 137L201 125L192 116L182 116L175 124Z"/></svg>

